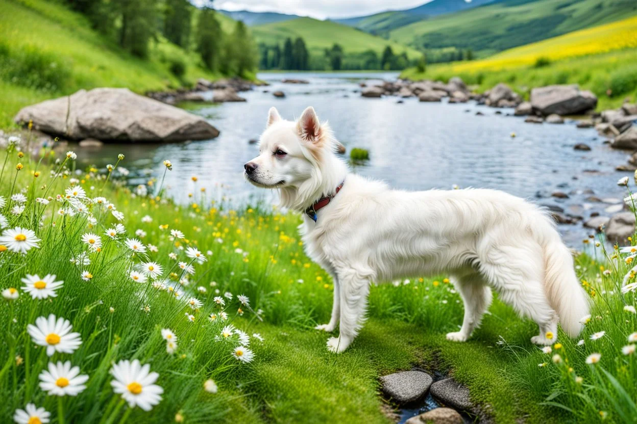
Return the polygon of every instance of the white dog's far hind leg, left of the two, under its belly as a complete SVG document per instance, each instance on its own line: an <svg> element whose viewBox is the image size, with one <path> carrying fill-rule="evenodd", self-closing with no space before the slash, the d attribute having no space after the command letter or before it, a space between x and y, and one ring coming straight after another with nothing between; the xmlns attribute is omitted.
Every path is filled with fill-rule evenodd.
<svg viewBox="0 0 637 424"><path fill-rule="evenodd" d="M452 281L464 301L464 318L460 331L447 333L447 340L466 341L480 325L482 315L489 309L492 300L491 289L478 273L454 278Z"/></svg>

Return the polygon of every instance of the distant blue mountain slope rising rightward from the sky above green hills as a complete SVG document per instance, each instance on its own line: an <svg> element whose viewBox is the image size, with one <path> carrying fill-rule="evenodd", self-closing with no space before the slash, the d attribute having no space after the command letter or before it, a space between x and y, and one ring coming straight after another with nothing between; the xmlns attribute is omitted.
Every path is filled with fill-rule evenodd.
<svg viewBox="0 0 637 424"><path fill-rule="evenodd" d="M492 3L493 1L494 0L472 0L468 2L466 0L433 0L408 10L385 11L364 17L335 19L334 22L350 25L371 34L386 34L392 29L412 24L412 22L444 15L445 13L454 13L475 8L483 4Z"/></svg>

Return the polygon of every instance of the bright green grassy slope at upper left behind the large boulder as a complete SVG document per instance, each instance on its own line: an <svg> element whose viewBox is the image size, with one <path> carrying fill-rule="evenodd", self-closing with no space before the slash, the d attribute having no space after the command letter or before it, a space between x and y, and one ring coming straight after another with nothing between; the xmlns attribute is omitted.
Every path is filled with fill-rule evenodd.
<svg viewBox="0 0 637 424"><path fill-rule="evenodd" d="M222 26L230 21L223 17ZM20 107L80 88L142 93L219 77L199 65L196 53L161 37L151 42L147 60L132 57L94 31L87 18L52 1L0 1L0 34L0 128L11 125ZM182 79L169 71L175 58L186 65Z"/></svg>

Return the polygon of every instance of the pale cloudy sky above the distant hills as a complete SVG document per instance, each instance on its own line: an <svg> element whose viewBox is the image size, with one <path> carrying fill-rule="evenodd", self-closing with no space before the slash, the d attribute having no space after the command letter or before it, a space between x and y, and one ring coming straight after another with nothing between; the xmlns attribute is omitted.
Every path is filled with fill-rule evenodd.
<svg viewBox="0 0 637 424"><path fill-rule="evenodd" d="M201 6L207 0L193 0ZM278 12L317 19L372 15L386 10L410 9L432 0L213 0L215 9ZM465 0L466 1L466 0Z"/></svg>

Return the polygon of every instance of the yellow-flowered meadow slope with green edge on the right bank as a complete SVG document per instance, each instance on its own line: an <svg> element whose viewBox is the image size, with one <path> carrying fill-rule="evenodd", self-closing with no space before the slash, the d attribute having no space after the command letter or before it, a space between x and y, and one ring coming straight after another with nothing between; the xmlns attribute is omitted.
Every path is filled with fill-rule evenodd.
<svg viewBox="0 0 637 424"><path fill-rule="evenodd" d="M570 32L505 50L482 60L428 65L401 74L410 79L460 76L479 91L500 82L528 97L531 88L578 84L594 92L598 109L617 107L637 99L637 17Z"/></svg>

